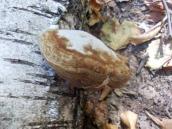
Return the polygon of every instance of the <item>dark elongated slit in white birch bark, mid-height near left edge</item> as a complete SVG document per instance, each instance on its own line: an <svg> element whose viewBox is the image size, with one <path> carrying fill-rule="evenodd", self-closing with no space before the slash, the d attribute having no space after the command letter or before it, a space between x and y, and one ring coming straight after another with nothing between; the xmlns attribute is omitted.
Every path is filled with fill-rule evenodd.
<svg viewBox="0 0 172 129"><path fill-rule="evenodd" d="M27 65L27 66L36 66L36 64L29 62L29 61L25 61L25 60L21 60L21 59L12 59L12 58L3 58L5 61L8 61L12 64L22 64L22 65Z"/></svg>

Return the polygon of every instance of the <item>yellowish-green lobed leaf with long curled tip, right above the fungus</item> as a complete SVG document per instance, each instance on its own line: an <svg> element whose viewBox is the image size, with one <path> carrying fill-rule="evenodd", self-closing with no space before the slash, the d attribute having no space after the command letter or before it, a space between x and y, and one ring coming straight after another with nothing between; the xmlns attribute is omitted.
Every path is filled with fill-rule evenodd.
<svg viewBox="0 0 172 129"><path fill-rule="evenodd" d="M134 22L124 21L120 24L116 18L113 18L104 23L101 29L101 39L114 50L121 49L129 43L141 44L152 39L160 31L163 23L158 23L142 34Z"/></svg>

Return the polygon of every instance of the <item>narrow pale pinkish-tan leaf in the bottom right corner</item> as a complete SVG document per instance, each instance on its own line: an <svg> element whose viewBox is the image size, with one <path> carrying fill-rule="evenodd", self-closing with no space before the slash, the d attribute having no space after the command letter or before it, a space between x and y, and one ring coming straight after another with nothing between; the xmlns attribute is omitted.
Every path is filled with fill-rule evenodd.
<svg viewBox="0 0 172 129"><path fill-rule="evenodd" d="M172 119L162 119L151 115L149 112L146 112L146 114L158 125L161 127L161 129L172 129Z"/></svg>

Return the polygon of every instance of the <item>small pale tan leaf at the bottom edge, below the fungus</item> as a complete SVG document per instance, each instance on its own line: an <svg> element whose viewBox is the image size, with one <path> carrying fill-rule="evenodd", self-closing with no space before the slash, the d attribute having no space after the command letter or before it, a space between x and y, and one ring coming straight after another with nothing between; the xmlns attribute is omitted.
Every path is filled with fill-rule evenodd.
<svg viewBox="0 0 172 129"><path fill-rule="evenodd" d="M126 111L120 114L121 121L128 127L128 129L136 129L138 115L131 111Z"/></svg>

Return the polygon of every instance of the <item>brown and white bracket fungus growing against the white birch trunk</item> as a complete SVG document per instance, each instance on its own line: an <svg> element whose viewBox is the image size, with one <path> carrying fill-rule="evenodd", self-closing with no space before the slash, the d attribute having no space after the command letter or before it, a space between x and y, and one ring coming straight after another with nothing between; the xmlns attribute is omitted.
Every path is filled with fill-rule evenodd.
<svg viewBox="0 0 172 129"><path fill-rule="evenodd" d="M87 32L54 26L43 32L40 40L42 54L58 75L75 87L105 89L101 100L131 76L126 58Z"/></svg>

